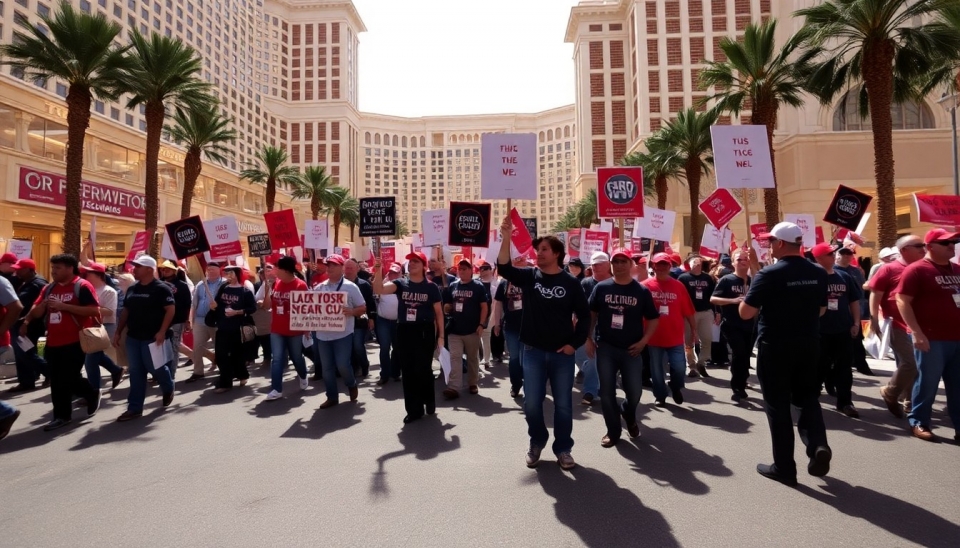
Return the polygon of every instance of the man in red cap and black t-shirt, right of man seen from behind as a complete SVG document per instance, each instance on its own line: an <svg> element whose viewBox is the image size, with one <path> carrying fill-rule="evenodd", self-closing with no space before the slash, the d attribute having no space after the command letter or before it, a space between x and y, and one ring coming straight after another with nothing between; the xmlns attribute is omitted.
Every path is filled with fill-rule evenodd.
<svg viewBox="0 0 960 548"><path fill-rule="evenodd" d="M853 407L853 345L860 335L860 301L863 292L847 273L835 269L836 248L828 243L810 250L827 271L827 311L820 317L820 380L833 388L837 409L850 418L859 418Z"/></svg>

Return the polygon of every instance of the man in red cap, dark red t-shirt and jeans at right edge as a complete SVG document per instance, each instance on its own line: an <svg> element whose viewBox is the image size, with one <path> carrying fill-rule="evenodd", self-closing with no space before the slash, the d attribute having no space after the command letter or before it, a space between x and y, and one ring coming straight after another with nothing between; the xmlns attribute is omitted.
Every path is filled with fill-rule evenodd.
<svg viewBox="0 0 960 548"><path fill-rule="evenodd" d="M915 437L935 441L930 415L941 378L950 420L955 430L960 428L960 265L951 262L960 232L935 228L923 242L927 256L904 269L897 307L917 349L919 375L907 419ZM960 441L960 434L954 439Z"/></svg>

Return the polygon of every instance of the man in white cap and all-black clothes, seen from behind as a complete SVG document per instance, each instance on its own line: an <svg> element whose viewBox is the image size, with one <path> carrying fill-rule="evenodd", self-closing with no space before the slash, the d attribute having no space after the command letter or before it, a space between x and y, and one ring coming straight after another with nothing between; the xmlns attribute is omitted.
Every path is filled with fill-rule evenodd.
<svg viewBox="0 0 960 548"><path fill-rule="evenodd" d="M769 242L778 260L760 270L740 303L740 317L759 312L757 376L773 438L773 464L757 465L757 472L785 485L797 484L793 459L791 405L800 409L797 429L807 446L807 472L825 476L832 452L820 409L817 355L820 316L827 308L827 273L800 255L803 232L793 223L779 223L759 236ZM751 255L752 268L756 269Z"/></svg>

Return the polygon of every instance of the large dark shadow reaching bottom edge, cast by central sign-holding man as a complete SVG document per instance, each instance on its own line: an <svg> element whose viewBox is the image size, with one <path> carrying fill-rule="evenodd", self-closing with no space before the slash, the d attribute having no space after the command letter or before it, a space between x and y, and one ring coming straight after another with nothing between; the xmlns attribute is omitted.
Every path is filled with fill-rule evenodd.
<svg viewBox="0 0 960 548"><path fill-rule="evenodd" d="M663 514L598 470L578 466L568 473L542 463L537 479L556 499L557 519L577 533L584 546L680 546Z"/></svg>

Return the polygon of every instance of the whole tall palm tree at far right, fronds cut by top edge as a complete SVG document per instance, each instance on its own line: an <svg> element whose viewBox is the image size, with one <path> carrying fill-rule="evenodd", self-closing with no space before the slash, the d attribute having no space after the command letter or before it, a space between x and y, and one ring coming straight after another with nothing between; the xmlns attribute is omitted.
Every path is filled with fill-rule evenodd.
<svg viewBox="0 0 960 548"><path fill-rule="evenodd" d="M829 104L840 92L859 89L860 115L870 116L880 246L897 239L890 109L916 100L924 91L919 82L942 59L958 57L960 33L930 21L950 4L955 0L826 0L795 13L806 18L805 41L822 47L825 58L814 67L810 90Z"/></svg>

